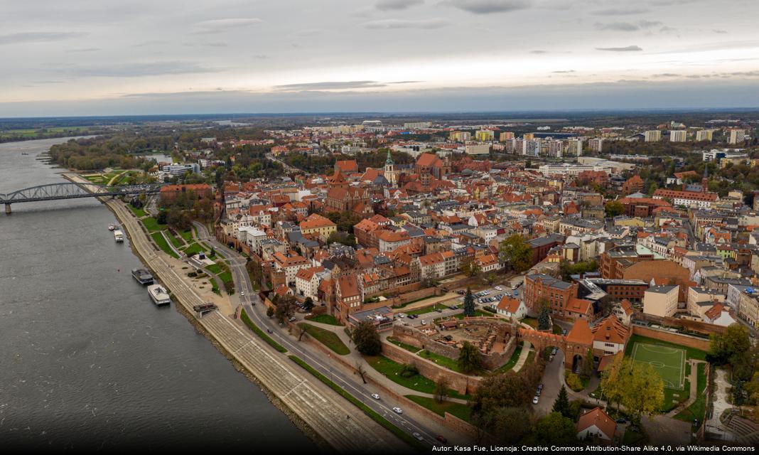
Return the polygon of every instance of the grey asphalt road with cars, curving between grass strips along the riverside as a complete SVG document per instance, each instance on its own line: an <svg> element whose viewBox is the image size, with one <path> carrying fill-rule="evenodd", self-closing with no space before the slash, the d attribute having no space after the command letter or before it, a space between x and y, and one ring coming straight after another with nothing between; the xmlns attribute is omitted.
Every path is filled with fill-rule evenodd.
<svg viewBox="0 0 759 455"><path fill-rule="evenodd" d="M372 393L378 393L382 395L381 390L378 387L373 387L370 384L362 384L361 381L357 381L354 374L349 374L345 371L342 365L330 365L329 359L324 358L324 354L316 348L309 346L307 343L298 343L293 337L288 334L286 327L282 327L271 318L266 317L265 305L260 302L258 293L253 289L250 283L250 276L245 269L246 259L243 258L237 251L228 248L216 238L209 235L206 226L200 223L195 223L197 227L198 237L206 242L206 244L212 245L216 249L216 254L228 259L232 271L232 279L235 280L235 289L239 289L242 292L238 293L245 312L250 316L250 319L254 321L260 329L267 330L272 334L273 338L288 351L294 355L298 355L299 358L307 362L312 368L324 374L327 378L330 378L335 384L351 393L354 397L369 406L376 412L398 428L402 428L408 431L409 434L414 432L420 434L424 438L424 442L427 444L439 444L436 441L436 431L427 428L420 423L417 419L412 418L405 412L402 415L396 414L392 408L402 407L402 403L395 402L390 397L383 397L381 400L374 400ZM244 295L242 293L244 292Z"/></svg>

